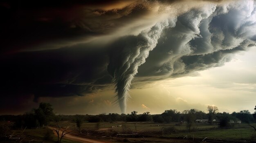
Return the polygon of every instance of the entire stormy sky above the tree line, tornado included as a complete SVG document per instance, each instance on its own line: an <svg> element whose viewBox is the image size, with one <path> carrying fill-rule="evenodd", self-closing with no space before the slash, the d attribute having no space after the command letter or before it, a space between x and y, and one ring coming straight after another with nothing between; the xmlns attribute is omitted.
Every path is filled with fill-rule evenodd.
<svg viewBox="0 0 256 143"><path fill-rule="evenodd" d="M254 112L255 0L0 2L0 114Z"/></svg>

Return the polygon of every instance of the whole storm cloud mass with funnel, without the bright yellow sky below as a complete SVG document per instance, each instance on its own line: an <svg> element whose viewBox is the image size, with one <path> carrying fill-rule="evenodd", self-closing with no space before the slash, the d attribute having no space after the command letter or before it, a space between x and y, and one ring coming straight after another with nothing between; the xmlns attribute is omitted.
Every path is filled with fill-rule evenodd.
<svg viewBox="0 0 256 143"><path fill-rule="evenodd" d="M254 1L0 6L6 13L0 25L0 92L9 99L86 96L114 84L125 112L134 79L146 83L222 66L256 39Z"/></svg>

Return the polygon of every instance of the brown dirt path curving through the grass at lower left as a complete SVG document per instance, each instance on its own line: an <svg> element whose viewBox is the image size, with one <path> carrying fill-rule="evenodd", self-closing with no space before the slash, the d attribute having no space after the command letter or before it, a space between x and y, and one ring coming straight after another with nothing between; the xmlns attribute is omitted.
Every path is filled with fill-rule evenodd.
<svg viewBox="0 0 256 143"><path fill-rule="evenodd" d="M54 131L54 128L49 127L50 129L52 129ZM54 131L54 135L57 136L57 133ZM70 139L72 141L79 141L81 143L106 143L104 141L97 141L97 140L93 140L93 139L87 139L87 138L82 138L82 137L78 137L78 136L73 136L71 134L66 134L64 136L65 139Z"/></svg>

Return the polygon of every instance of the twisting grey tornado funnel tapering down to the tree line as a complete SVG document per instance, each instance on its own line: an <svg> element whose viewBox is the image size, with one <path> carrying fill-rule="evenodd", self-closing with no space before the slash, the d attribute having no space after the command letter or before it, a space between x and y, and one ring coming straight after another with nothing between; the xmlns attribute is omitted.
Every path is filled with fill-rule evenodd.
<svg viewBox="0 0 256 143"><path fill-rule="evenodd" d="M117 100L121 112L126 112L126 101L130 97L129 89L131 82L138 73L138 68L146 62L149 51L152 51L157 45L157 40L162 34L164 28L169 26L168 20L156 23L152 28L146 29L137 36L135 47L130 47L130 53L124 53L125 60L121 61L121 66L115 68L114 82L116 84Z"/></svg>

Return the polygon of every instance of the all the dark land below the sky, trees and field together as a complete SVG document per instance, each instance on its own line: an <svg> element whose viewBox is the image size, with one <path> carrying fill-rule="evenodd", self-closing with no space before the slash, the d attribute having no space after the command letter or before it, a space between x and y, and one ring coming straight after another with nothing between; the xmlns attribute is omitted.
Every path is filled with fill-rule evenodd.
<svg viewBox="0 0 256 143"><path fill-rule="evenodd" d="M56 115L50 103L40 103L22 115L0 115L0 143L256 142L256 112L207 110Z"/></svg>

